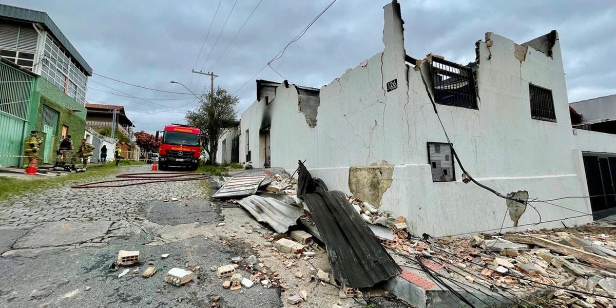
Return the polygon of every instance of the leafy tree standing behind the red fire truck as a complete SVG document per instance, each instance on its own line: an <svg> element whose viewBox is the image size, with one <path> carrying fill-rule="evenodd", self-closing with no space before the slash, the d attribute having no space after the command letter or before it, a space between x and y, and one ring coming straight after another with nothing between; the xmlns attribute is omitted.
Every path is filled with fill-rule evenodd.
<svg viewBox="0 0 616 308"><path fill-rule="evenodd" d="M210 161L216 161L218 139L225 129L237 126L235 107L240 99L227 90L217 87L214 94L201 95L199 106L186 112L188 124L197 126L203 134L203 147Z"/></svg>

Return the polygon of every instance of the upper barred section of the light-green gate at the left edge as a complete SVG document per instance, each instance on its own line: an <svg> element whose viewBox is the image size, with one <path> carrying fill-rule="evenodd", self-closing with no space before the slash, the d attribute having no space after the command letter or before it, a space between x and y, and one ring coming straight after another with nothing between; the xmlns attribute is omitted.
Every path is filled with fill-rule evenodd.
<svg viewBox="0 0 616 308"><path fill-rule="evenodd" d="M28 120L34 77L0 62L0 111Z"/></svg>

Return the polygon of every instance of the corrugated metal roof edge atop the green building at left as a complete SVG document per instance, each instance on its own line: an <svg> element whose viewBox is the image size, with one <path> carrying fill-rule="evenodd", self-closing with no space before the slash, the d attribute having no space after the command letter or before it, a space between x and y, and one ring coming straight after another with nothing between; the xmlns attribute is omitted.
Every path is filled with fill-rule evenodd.
<svg viewBox="0 0 616 308"><path fill-rule="evenodd" d="M30 10L24 9L23 7L15 7L15 6L7 6L6 4L0 4L0 17L6 18L14 18L17 20L24 20L26 22L36 22L43 23L46 26L47 30L49 30L52 34L54 34L55 38L60 41L60 44L67 49L67 51L71 54L75 60L84 68L84 70L92 76L92 68L87 64L86 60L81 57L77 49L73 46L73 44L68 41L66 36L60 31L57 25L55 25L54 21L51 20L51 17L47 15L46 12L41 12L38 10Z"/></svg>

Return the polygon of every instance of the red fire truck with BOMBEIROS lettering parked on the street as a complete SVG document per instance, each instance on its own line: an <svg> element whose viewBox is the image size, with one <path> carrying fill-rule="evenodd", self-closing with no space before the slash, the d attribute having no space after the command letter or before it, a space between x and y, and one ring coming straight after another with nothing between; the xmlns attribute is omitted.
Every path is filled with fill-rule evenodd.
<svg viewBox="0 0 616 308"><path fill-rule="evenodd" d="M156 139L159 133L156 131ZM163 140L158 152L159 169L174 166L197 170L201 154L201 131L195 126L173 123L165 126L162 133Z"/></svg>

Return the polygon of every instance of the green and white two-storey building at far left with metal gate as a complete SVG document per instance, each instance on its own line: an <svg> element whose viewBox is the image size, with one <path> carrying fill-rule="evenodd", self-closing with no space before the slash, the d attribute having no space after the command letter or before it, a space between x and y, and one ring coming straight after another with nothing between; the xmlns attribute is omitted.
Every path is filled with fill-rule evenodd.
<svg viewBox="0 0 616 308"><path fill-rule="evenodd" d="M39 163L62 136L82 136L92 68L45 12L0 4L0 164L18 166L23 140L39 131Z"/></svg>

